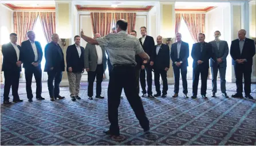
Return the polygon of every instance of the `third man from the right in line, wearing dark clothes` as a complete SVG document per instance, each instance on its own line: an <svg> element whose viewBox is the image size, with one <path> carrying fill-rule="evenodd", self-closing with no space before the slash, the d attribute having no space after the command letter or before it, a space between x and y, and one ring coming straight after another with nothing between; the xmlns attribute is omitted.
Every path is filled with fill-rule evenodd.
<svg viewBox="0 0 256 146"><path fill-rule="evenodd" d="M209 59L213 56L211 44L204 42L205 35L199 33L199 42L193 44L191 56L193 58L193 96L191 98L196 98L198 94L198 81L201 74L201 95L202 98L208 99L206 97L207 89L207 77L209 69ZM214 58L214 57L212 57ZM215 58L214 58L215 59Z"/></svg>

